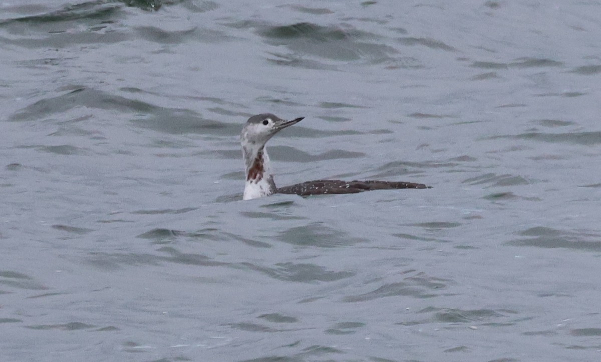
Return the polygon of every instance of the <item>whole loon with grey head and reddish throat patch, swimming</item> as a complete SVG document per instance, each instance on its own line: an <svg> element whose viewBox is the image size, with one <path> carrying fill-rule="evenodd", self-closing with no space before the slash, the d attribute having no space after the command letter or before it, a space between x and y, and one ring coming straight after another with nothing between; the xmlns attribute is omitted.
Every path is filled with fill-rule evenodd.
<svg viewBox="0 0 601 362"><path fill-rule="evenodd" d="M254 115L246 121L240 135L242 155L246 163L246 185L243 200L286 193L300 196L358 193L370 190L430 189L430 186L395 181L342 181L340 179L320 179L292 186L276 187L271 173L269 155L265 143L274 134L302 121L304 117L286 121L272 113Z"/></svg>

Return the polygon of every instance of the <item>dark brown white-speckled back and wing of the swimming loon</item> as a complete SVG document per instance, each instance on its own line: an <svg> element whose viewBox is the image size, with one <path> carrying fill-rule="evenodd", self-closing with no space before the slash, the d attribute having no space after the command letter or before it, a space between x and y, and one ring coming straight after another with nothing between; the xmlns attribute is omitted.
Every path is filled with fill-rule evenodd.
<svg viewBox="0 0 601 362"><path fill-rule="evenodd" d="M403 183L397 181L343 181L341 179L318 179L306 183L284 186L278 188L278 193L288 193L301 196L332 195L344 193L358 193L371 190L395 189L430 189L430 186L416 183Z"/></svg>

